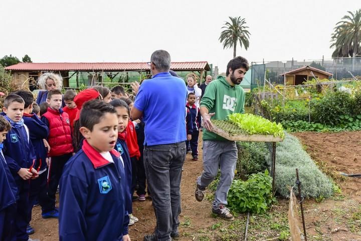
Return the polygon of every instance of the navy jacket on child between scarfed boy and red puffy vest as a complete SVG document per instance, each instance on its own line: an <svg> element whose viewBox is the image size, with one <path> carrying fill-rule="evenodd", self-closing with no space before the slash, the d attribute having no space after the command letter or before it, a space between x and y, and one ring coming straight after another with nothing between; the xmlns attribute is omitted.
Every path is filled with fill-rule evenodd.
<svg viewBox="0 0 361 241"><path fill-rule="evenodd" d="M41 164L40 170L44 170L47 167L46 157L48 156L48 149L45 147L43 139L48 138L49 128L34 113L32 114L24 113L23 119L24 119L24 123L29 128L30 139L32 141L37 158L37 165L35 166L35 168L38 169L39 164ZM40 159L41 159L41 163L40 163Z"/></svg>

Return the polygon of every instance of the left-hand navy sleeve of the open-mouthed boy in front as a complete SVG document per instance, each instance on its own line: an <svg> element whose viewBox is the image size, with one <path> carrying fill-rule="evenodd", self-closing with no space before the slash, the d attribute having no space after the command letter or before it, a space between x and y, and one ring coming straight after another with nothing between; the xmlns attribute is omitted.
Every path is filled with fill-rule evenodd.
<svg viewBox="0 0 361 241"><path fill-rule="evenodd" d="M59 240L86 241L85 209L88 184L76 176L65 175L60 180Z"/></svg>

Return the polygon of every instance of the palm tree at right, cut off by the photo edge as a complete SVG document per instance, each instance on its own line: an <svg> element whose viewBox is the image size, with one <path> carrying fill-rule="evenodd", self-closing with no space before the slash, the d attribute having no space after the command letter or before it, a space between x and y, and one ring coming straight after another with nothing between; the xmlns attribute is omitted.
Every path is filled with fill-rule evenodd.
<svg viewBox="0 0 361 241"><path fill-rule="evenodd" d="M334 27L330 48L335 47L332 57L354 57L361 54L361 9L350 11Z"/></svg>

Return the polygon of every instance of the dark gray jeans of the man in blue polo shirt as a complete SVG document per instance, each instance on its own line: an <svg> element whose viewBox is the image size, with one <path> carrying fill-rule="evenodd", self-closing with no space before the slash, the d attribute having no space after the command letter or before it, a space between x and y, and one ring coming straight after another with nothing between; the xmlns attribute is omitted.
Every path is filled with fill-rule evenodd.
<svg viewBox="0 0 361 241"><path fill-rule="evenodd" d="M186 142L144 146L144 166L156 217L157 240L170 239L179 226L180 179L186 159Z"/></svg>

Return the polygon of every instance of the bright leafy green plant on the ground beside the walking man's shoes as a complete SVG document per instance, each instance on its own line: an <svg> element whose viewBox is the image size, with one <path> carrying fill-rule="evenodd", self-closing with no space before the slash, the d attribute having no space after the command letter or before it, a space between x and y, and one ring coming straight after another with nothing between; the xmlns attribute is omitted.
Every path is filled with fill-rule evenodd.
<svg viewBox="0 0 361 241"><path fill-rule="evenodd" d="M228 192L228 206L237 212L263 213L274 200L272 177L265 173L252 174L247 181L233 180Z"/></svg>

